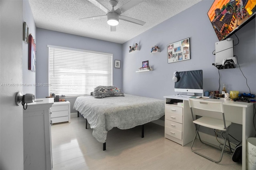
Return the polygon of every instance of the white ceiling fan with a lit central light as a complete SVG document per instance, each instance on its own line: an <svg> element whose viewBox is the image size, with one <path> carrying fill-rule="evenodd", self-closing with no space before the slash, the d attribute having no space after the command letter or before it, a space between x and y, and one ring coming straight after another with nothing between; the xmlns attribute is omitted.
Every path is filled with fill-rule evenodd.
<svg viewBox="0 0 256 170"><path fill-rule="evenodd" d="M123 6L121 6L120 8L118 8L116 10L114 10L114 7L117 5L118 2L116 0L110 0L109 3L112 6L112 10L111 11L108 10L108 8L103 6L97 0L88 0L88 1L92 2L94 5L99 7L101 10L103 10L107 14L106 15L102 15L102 16L94 16L94 17L88 17L88 18L81 18L80 20L96 20L96 19L106 18L108 20L107 23L110 25L110 31L116 31L116 26L119 24L119 20L132 22L134 24L139 24L141 26L146 24L146 22L143 22L143 21L140 21L140 20L136 20L134 18L130 18L130 17L121 15L123 12L125 12L125 11L129 10L130 8L140 4L140 2L142 2L143 0L130 0L129 2L127 2L126 4L124 4Z"/></svg>

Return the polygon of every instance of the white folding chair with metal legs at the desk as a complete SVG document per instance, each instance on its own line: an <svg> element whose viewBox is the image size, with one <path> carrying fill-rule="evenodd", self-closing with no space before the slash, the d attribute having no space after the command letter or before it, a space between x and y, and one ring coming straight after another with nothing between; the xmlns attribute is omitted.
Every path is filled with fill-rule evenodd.
<svg viewBox="0 0 256 170"><path fill-rule="evenodd" d="M219 160L213 160L203 154L200 154L199 152L196 152L195 150L192 149L194 141L196 139L196 135L194 137L194 140L192 142L191 145L191 150L200 155L203 156L204 158L211 160L212 162L220 162L222 160L222 156L223 156L223 152L224 149L226 147L226 141L228 140L228 145L229 145L229 149L230 151L228 153L231 153L231 147L230 147L230 141L228 138L228 131L229 131L229 127L231 125L231 122L229 121L225 121L225 115L224 115L224 109L223 109L223 104L222 102L215 102L215 101L205 101L202 99L189 99L189 106L191 109L191 113L192 113L192 117L193 117L193 123L195 123L195 126L198 125L198 128L196 126L196 135L198 135L198 138L200 140L200 142L202 142L198 130L200 128L200 126L203 127L208 127L208 128L213 128L216 130L222 130L222 131L226 131L226 137L225 137L225 142L223 144L223 148L220 149L216 146L207 144L205 142L202 142L203 144L206 144L208 146L211 146L213 148L216 148L218 150L222 150L221 155L220 155L220 159ZM200 110L197 110L200 109ZM210 111L210 112L209 112ZM195 115L200 115L202 117L200 117L199 119L195 119ZM214 115L214 117L218 116L218 118L220 119L215 119L215 118L211 118ZM226 152L226 151L225 151Z"/></svg>

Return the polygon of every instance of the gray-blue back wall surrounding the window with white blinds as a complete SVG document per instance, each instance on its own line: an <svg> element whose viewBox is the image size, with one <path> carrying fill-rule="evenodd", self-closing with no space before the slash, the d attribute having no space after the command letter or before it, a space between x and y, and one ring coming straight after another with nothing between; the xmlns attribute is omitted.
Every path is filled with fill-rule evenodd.
<svg viewBox="0 0 256 170"><path fill-rule="evenodd" d="M93 38L76 36L62 32L36 29L36 83L48 83L48 47L47 45L56 45L62 47L70 47L76 49L85 49L91 51L99 51L113 54L113 85L122 89L122 69L114 68L115 60L122 60L122 44L106 42ZM122 61L121 61L122 65ZM53 92L52 92L53 93ZM65 95L65 94L63 94ZM49 96L48 87L36 87L36 97L44 98ZM71 113L76 98L67 98L71 104Z"/></svg>

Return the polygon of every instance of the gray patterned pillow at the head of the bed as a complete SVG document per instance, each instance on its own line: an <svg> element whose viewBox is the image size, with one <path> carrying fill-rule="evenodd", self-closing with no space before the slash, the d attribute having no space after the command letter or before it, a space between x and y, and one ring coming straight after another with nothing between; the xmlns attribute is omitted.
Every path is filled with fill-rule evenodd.
<svg viewBox="0 0 256 170"><path fill-rule="evenodd" d="M100 99L104 97L124 96L122 90L116 86L97 86L93 92L94 98Z"/></svg>

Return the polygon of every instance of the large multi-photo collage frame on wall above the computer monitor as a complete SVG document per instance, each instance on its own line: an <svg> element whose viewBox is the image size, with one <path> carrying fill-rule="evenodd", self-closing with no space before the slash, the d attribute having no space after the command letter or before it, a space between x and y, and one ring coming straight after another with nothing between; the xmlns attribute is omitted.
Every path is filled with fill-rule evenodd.
<svg viewBox="0 0 256 170"><path fill-rule="evenodd" d="M190 59L190 38L167 45L167 61L173 63Z"/></svg>

